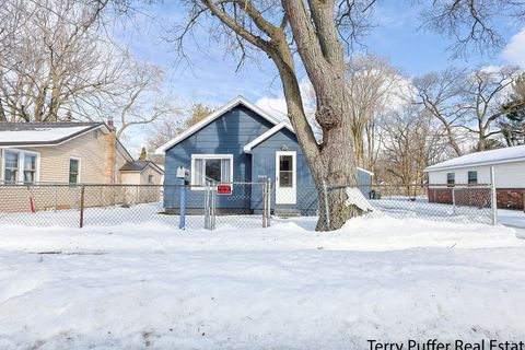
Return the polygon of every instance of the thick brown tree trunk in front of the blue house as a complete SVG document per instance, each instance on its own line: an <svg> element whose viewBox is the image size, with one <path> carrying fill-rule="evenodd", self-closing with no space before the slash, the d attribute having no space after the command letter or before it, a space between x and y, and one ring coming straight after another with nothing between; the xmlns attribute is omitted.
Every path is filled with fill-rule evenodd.
<svg viewBox="0 0 525 350"><path fill-rule="evenodd" d="M282 0L299 55L315 91L315 118L323 129L318 154L306 154L319 195L320 217L316 230L331 231L361 214L361 210L348 203L353 198L348 198L346 191L347 187L358 185L351 105L345 81L345 55L334 23L334 2L310 0L308 4L315 30L302 0ZM287 103L290 106L288 98ZM294 122L293 116L291 119ZM306 144L299 136L304 149Z"/></svg>

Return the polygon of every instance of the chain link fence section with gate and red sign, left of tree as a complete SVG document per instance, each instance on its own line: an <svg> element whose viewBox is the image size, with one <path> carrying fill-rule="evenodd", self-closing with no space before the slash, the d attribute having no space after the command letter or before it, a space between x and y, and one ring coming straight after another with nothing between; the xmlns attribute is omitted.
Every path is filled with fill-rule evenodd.
<svg viewBox="0 0 525 350"><path fill-rule="evenodd" d="M221 194L222 187L229 191ZM182 230L269 225L266 183L0 185L0 224L108 226L152 222Z"/></svg>

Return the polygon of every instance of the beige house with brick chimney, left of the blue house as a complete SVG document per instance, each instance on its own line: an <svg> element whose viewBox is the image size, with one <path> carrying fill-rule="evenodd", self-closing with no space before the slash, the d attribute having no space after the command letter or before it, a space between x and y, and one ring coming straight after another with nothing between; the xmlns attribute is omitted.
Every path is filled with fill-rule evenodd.
<svg viewBox="0 0 525 350"><path fill-rule="evenodd" d="M115 131L113 122L0 122L0 184L160 185L162 170L152 162L135 161ZM38 210L68 209L78 205L78 187L62 186L52 194L43 187L26 191ZM8 190L15 188L3 189L0 210L27 210L28 195ZM132 201L155 200L158 196L150 192ZM110 192L101 186L86 187L85 194L88 206L131 200L130 192L118 188ZM21 203L13 198L21 198Z"/></svg>

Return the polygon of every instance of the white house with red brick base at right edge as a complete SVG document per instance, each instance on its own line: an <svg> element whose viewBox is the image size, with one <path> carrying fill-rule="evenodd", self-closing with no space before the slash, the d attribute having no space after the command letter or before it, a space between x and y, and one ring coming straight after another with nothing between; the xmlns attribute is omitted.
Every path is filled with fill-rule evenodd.
<svg viewBox="0 0 525 350"><path fill-rule="evenodd" d="M466 154L429 166L425 172L429 185L490 184L491 166L494 167L498 207L524 209L525 145ZM450 188L433 192L430 201L452 202Z"/></svg>

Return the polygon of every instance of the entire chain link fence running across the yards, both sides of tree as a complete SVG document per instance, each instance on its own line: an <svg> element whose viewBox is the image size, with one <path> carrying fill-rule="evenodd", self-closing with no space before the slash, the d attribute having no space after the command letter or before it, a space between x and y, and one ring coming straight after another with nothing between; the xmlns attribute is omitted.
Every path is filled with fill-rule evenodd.
<svg viewBox="0 0 525 350"><path fill-rule="evenodd" d="M339 187L320 190L322 206ZM495 223L490 185L374 185L345 188L371 217ZM108 226L151 222L175 229L267 228L270 219L330 221L314 186L261 183L190 185L0 185L0 224ZM320 218L318 218L320 215Z"/></svg>

